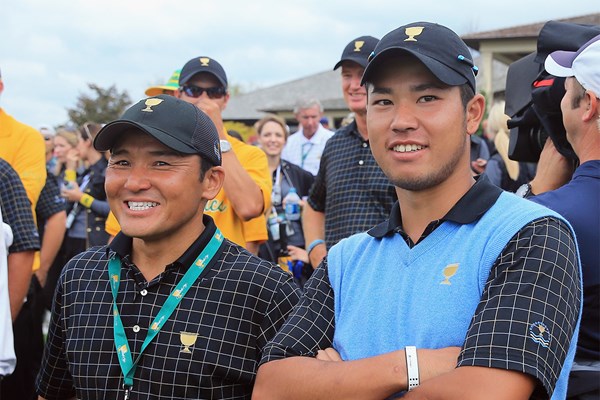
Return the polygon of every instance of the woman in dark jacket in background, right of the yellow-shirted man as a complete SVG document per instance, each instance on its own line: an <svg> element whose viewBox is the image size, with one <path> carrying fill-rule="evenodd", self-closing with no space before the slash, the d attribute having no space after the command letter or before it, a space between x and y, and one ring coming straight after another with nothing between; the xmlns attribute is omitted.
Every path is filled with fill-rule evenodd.
<svg viewBox="0 0 600 400"><path fill-rule="evenodd" d="M256 123L258 143L267 155L269 169L273 177L271 211L267 216L269 240L261 245L259 255L273 262L291 259L295 268L295 277L303 281L310 275L312 268L308 265L308 255L304 250L304 233L302 220L288 221L285 217L285 196L291 188L295 188L298 196L308 196L314 177L299 166L281 158L281 152L287 140L288 130L285 121L278 116L269 115ZM298 263L302 261L302 263ZM304 276L300 270L304 266ZM283 265L285 268L285 265Z"/></svg>

